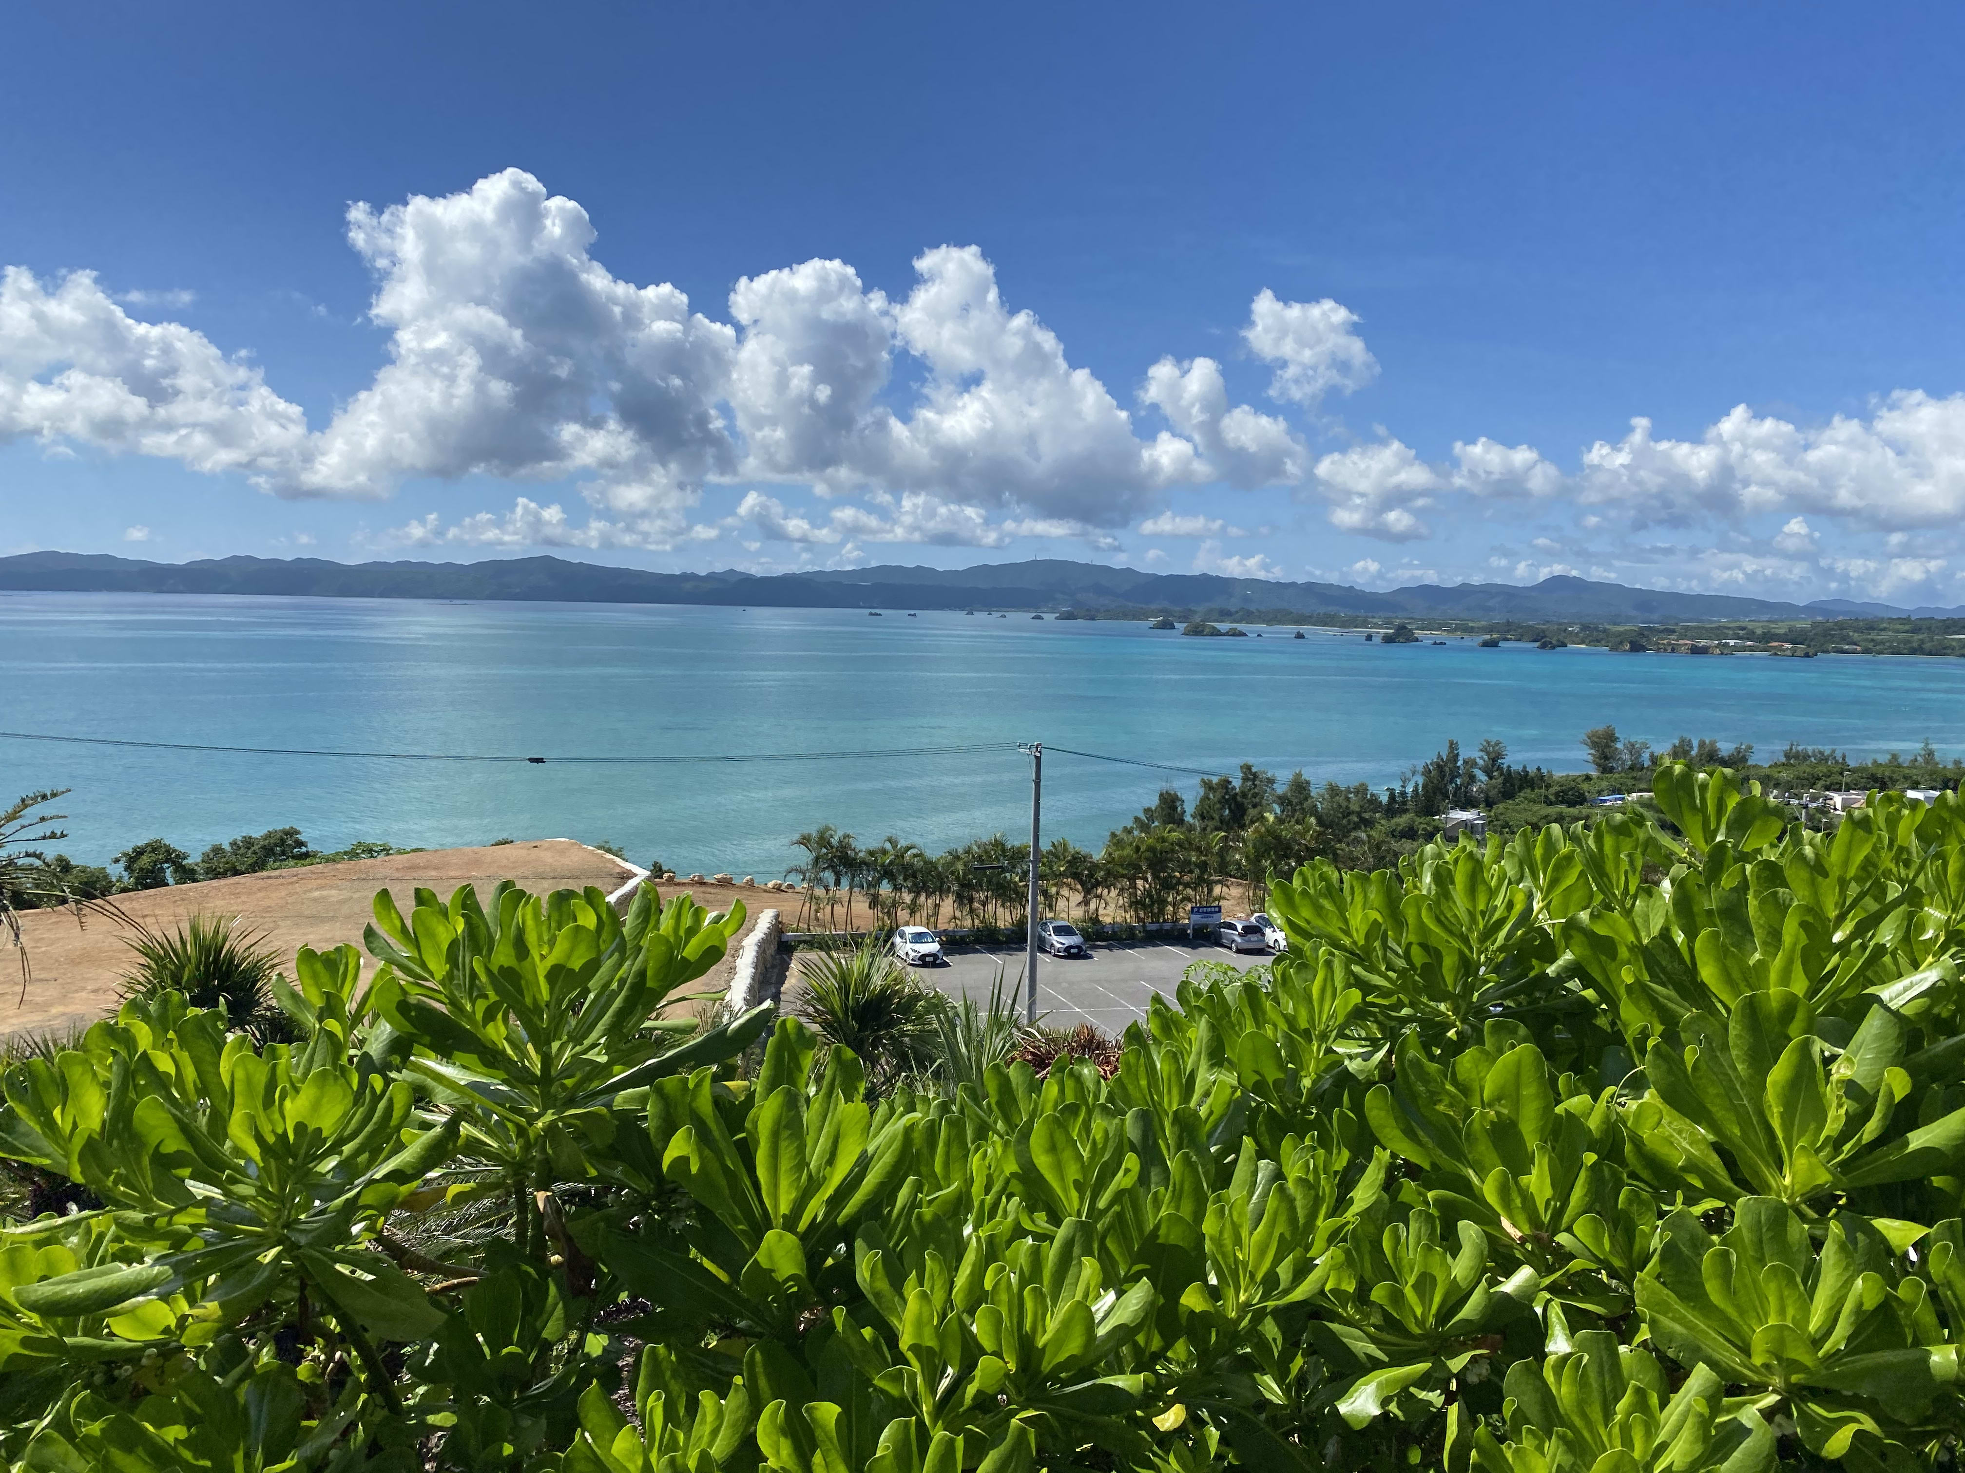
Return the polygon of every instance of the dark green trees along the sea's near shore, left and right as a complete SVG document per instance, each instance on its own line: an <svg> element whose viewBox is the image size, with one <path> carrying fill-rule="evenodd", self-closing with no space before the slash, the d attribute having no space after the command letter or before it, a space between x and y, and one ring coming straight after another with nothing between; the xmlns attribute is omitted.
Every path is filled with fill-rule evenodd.
<svg viewBox="0 0 1965 1473"><path fill-rule="evenodd" d="M1615 795L1645 790L1666 762L1725 766L1759 782L1776 811L1796 825L1833 823L1808 801L1810 793L1953 790L1965 762L1941 758L1930 742L1916 752L1851 756L1831 748L1788 744L1772 760L1755 760L1753 744L1680 736L1655 746L1603 725L1578 742L1578 770L1552 772L1509 760L1497 738L1462 750L1448 740L1395 784L1317 786L1301 770L1281 778L1244 762L1234 776L1203 778L1189 793L1161 790L1098 850L1069 839L1051 841L1039 858L1041 903L1047 915L1093 925L1130 927L1181 921L1189 905L1224 903L1256 911L1265 905L1265 876L1293 874L1317 858L1340 870L1379 870L1438 839L1450 815L1480 815L1480 833L1507 837L1544 825L1596 823ZM53 793L29 795L51 799ZM1631 797L1645 803L1643 791ZM26 809L10 817L18 825ZM8 839L0 815L0 843ZM147 839L106 866L77 864L51 850L59 831L43 829L14 841L16 858L6 903L14 909L102 900L171 884L257 874L275 868L328 864L413 852L385 843L356 843L340 850L310 848L295 827L240 835L208 846L198 858L167 839ZM609 852L613 845L597 845ZM31 850L22 854L20 850ZM1002 833L931 852L906 835L863 841L835 825L819 825L794 841L784 882L786 919L794 929L867 931L902 923L979 933L1018 931L1026 923L1030 846ZM623 856L627 858L627 856ZM656 876L674 874L646 858Z"/></svg>

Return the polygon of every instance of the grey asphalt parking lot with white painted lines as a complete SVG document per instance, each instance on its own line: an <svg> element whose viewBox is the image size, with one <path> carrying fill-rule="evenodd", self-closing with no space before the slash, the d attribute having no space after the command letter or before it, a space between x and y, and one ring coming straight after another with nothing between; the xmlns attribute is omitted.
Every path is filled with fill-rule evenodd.
<svg viewBox="0 0 1965 1473"><path fill-rule="evenodd" d="M924 966L916 976L953 996L988 1000L990 988L1002 980L1022 1013L1024 949L949 947L947 966ZM1169 998L1181 972L1197 960L1228 962L1248 970L1267 962L1267 955L1234 955L1216 945L1187 945L1187 941L1122 941L1098 943L1091 956L1038 958L1038 1015L1051 1027L1095 1023L1106 1033L1120 1033L1130 1021L1146 1015L1155 992Z"/></svg>

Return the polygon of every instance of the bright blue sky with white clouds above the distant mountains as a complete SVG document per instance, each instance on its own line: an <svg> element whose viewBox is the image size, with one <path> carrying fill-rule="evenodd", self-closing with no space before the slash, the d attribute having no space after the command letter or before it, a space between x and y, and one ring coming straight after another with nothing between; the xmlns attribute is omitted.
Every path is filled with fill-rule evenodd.
<svg viewBox="0 0 1965 1473"><path fill-rule="evenodd" d="M10 31L0 552L1965 603L1955 8Z"/></svg>

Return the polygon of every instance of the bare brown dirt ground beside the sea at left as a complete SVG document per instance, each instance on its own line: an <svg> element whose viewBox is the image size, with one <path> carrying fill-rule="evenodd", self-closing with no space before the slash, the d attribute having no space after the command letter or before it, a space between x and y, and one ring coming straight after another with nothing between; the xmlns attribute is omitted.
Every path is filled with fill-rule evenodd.
<svg viewBox="0 0 1965 1473"><path fill-rule="evenodd" d="M377 890L393 892L397 905L409 911L417 886L448 898L458 886L472 884L479 896L489 896L499 880L515 880L533 892L599 886L611 894L633 880L633 870L570 839L534 839L242 874L232 880L118 896L116 905L132 921L165 931L175 931L196 913L238 917L246 927L263 931L267 943L291 958L301 947L326 951L344 941L360 947L362 927L373 915ZM780 896L762 886L692 886L678 880L656 888L664 900L690 892L711 911L729 911L731 903L741 900L749 913L745 931L766 907L786 911L790 917L798 905L796 896ZM22 915L31 980L22 996L20 956L0 943L0 1035L86 1025L116 1011L130 935L128 925L100 915L86 917L79 927L69 909ZM741 937L731 943L729 955L709 976L696 984L698 990L729 984L739 945Z"/></svg>

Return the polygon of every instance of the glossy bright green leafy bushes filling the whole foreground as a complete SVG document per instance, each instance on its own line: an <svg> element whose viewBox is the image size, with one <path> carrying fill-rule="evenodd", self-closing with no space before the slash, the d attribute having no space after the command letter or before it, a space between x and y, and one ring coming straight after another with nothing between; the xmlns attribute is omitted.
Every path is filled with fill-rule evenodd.
<svg viewBox="0 0 1965 1473"><path fill-rule="evenodd" d="M741 915L385 896L373 980L301 953L299 1043L163 994L6 1070L0 1151L104 1210L0 1239L0 1451L1953 1469L1965 805L1655 793L1313 862L1267 978L1183 980L1110 1072L878 1102L796 1019L751 1078L762 1011L672 1021Z"/></svg>

